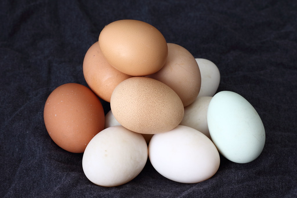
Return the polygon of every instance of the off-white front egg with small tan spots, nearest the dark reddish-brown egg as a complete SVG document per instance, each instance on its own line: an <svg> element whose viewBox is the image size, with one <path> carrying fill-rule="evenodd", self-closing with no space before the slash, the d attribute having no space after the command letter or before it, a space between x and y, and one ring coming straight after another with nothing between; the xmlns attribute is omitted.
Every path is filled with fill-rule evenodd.
<svg viewBox="0 0 297 198"><path fill-rule="evenodd" d="M83 172L99 186L119 186L134 179L147 158L148 147L141 134L112 126L89 142L83 153Z"/></svg>

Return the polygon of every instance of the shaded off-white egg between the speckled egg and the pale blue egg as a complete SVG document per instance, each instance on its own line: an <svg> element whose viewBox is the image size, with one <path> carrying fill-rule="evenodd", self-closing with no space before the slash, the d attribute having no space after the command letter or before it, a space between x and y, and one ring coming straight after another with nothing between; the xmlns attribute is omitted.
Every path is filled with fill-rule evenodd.
<svg viewBox="0 0 297 198"><path fill-rule="evenodd" d="M192 127L211 138L207 125L207 109L211 98L211 96L197 97L192 104L184 107L184 118L179 125Z"/></svg>

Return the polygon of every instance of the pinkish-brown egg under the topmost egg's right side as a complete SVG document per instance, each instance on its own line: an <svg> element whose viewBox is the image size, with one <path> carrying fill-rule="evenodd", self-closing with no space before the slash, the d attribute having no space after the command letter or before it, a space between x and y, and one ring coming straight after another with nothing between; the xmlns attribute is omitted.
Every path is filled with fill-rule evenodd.
<svg viewBox="0 0 297 198"><path fill-rule="evenodd" d="M168 58L162 69L148 77L172 88L181 98L184 107L194 102L201 87L200 70L194 56L174 43L168 43Z"/></svg>

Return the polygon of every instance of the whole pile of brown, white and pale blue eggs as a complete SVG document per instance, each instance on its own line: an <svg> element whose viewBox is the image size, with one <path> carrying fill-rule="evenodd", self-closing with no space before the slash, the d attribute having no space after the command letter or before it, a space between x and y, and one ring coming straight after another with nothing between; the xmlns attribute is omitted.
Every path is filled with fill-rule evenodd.
<svg viewBox="0 0 297 198"><path fill-rule="evenodd" d="M219 153L247 163L263 150L265 130L252 105L231 91L215 94L217 66L167 43L148 23L105 26L83 74L90 88L56 88L44 121L57 145L83 153L83 171L97 185L129 182L148 158L164 177L198 183L217 172ZM106 115L98 96L110 102Z"/></svg>

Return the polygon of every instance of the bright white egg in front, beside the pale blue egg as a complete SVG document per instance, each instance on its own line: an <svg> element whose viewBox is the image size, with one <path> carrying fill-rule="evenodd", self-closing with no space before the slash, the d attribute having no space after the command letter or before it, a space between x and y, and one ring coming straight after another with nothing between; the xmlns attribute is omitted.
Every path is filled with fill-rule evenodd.
<svg viewBox="0 0 297 198"><path fill-rule="evenodd" d="M181 183L198 183L219 169L217 148L203 133L188 126L154 134L149 143L149 159L164 177Z"/></svg>

